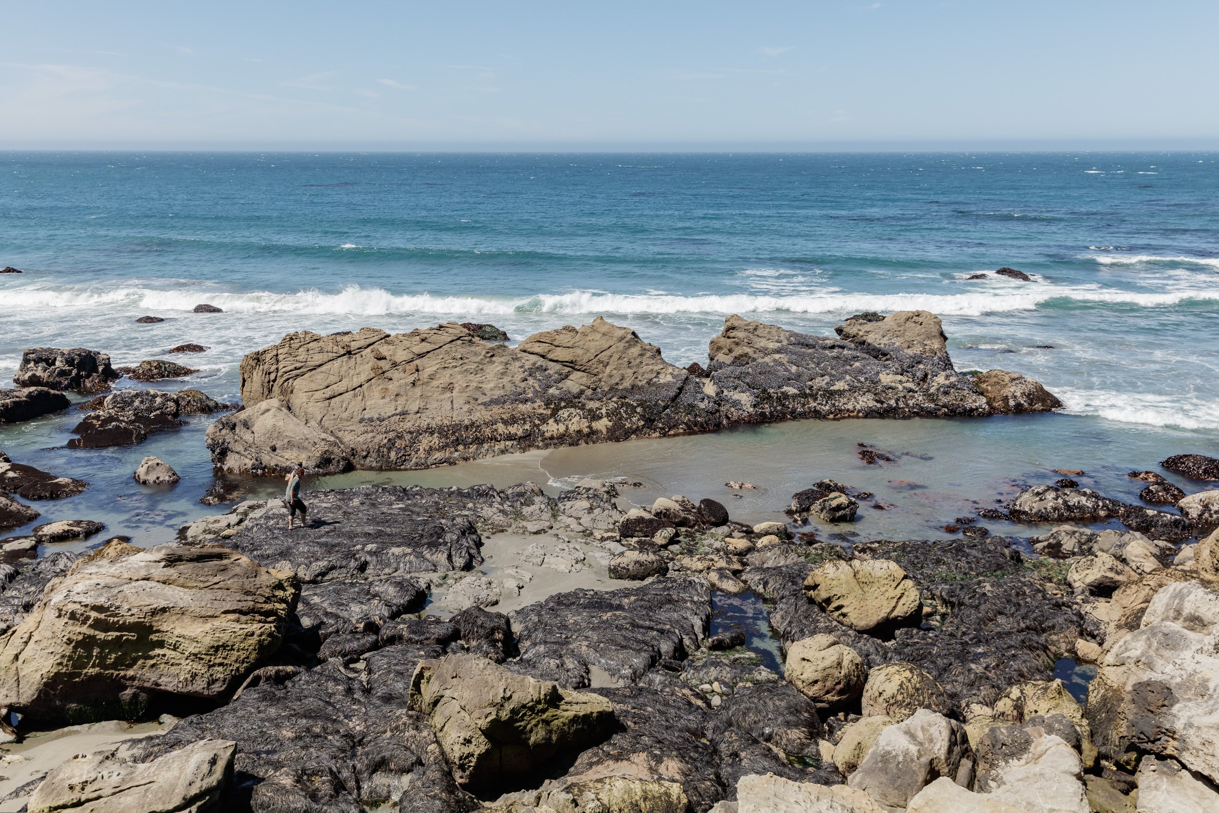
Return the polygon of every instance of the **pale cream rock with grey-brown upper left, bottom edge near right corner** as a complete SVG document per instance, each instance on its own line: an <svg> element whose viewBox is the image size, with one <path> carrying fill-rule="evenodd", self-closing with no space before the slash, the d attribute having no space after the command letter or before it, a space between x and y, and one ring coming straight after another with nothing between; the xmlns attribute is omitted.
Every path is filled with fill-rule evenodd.
<svg viewBox="0 0 1219 813"><path fill-rule="evenodd" d="M1036 725L996 725L983 735L974 790L1030 813L1091 811L1079 754Z"/></svg>

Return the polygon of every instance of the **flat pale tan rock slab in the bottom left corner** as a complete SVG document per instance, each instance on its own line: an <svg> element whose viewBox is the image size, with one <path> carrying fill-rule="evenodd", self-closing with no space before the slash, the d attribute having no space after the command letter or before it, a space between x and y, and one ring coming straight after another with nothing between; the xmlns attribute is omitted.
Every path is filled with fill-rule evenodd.
<svg viewBox="0 0 1219 813"><path fill-rule="evenodd" d="M78 753L54 768L27 804L30 813L122 813L212 809L233 769L233 742L200 740L151 762L134 762L124 744Z"/></svg>

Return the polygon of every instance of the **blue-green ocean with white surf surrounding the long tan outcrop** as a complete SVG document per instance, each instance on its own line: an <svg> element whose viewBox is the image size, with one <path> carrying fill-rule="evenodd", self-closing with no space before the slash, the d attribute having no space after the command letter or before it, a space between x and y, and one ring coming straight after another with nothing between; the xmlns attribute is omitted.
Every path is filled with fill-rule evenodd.
<svg viewBox="0 0 1219 813"><path fill-rule="evenodd" d="M684 366L706 361L730 313L830 334L861 311L925 308L958 369L1031 375L1062 413L797 422L315 485L620 474L645 481L639 501L729 500L724 479L757 472L763 488L729 508L777 518L789 488L836 475L906 507L853 533L942 535L952 511L1052 480L1052 467L1132 499L1131 468L1219 453L1217 158L0 152L0 266L24 272L0 277L0 378L24 347L84 346L119 366L197 343L208 350L176 357L197 374L152 386L235 400L241 356L293 330L490 322L518 341L605 316ZM204 302L224 312L190 312ZM166 321L134 323L144 314ZM94 484L37 503L38 522L100 519L149 544L223 509L196 502L212 481L207 419L135 447L66 450L79 417L0 428L15 461ZM855 442L890 444L898 462L869 468ZM145 455L182 483L137 485Z"/></svg>

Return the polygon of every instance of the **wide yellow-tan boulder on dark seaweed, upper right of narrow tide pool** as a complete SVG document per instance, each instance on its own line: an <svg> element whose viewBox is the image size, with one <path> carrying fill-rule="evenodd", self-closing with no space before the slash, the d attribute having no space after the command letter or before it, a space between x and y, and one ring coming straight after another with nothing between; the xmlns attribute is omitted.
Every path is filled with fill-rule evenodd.
<svg viewBox="0 0 1219 813"><path fill-rule="evenodd" d="M922 619L918 588L889 559L824 562L808 574L805 591L830 617L859 633L884 636Z"/></svg>

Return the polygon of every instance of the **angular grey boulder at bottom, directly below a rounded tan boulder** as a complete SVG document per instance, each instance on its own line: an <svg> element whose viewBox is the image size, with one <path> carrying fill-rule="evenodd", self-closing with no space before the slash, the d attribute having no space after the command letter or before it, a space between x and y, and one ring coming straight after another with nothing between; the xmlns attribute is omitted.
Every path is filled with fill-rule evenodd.
<svg viewBox="0 0 1219 813"><path fill-rule="evenodd" d="M961 723L922 708L880 733L847 785L887 808L904 811L936 779L956 780L969 753Z"/></svg>

